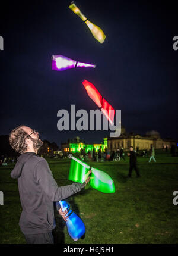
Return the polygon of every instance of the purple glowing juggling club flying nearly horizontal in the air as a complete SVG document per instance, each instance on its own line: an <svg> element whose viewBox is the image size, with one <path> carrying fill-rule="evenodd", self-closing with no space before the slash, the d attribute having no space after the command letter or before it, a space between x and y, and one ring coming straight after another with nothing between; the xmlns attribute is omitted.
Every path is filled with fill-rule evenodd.
<svg viewBox="0 0 178 256"><path fill-rule="evenodd" d="M52 55L52 69L63 71L69 68L76 67L93 67L96 66L93 64L81 63L80 61L72 60L71 58L62 56L62 55Z"/></svg>

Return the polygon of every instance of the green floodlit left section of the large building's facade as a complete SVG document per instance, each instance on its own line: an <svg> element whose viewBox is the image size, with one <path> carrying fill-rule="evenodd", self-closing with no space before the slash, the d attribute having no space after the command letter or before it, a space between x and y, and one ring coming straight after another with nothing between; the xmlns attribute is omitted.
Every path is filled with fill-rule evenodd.
<svg viewBox="0 0 178 256"><path fill-rule="evenodd" d="M96 149L96 152L98 152L100 146L102 151L104 151L104 148L107 148L107 138L104 138L104 143L102 144L85 144L82 142L79 143L68 143L63 146L64 152L73 152L73 153L80 153L82 148L85 148L85 152L92 151L93 148Z"/></svg>

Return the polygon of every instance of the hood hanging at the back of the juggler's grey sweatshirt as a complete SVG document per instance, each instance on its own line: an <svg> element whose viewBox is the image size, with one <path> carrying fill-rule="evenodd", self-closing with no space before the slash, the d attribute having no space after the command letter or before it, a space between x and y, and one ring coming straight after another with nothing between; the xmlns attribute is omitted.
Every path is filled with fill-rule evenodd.
<svg viewBox="0 0 178 256"><path fill-rule="evenodd" d="M18 179L21 176L21 172L23 170L24 163L26 163L28 158L32 157L33 155L36 155L36 153L27 152L27 153L20 155L20 157L18 157L18 161L15 164L15 167L11 172L11 177L13 179Z"/></svg>

